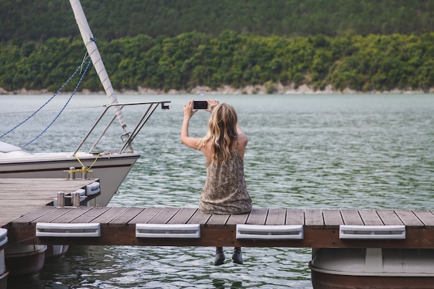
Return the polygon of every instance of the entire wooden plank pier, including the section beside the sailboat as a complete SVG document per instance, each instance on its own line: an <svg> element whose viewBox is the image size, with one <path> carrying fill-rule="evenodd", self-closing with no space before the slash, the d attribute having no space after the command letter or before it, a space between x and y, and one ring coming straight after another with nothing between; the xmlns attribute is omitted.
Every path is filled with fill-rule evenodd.
<svg viewBox="0 0 434 289"><path fill-rule="evenodd" d="M58 191L67 195L96 181L0 179L0 227L8 229L9 243L434 248L434 211L427 210L253 209L216 215L196 208L53 207ZM87 225L96 228L94 234ZM195 234L182 234L191 226ZM247 235L241 234L243 226ZM140 233L143 227L150 234Z"/></svg>

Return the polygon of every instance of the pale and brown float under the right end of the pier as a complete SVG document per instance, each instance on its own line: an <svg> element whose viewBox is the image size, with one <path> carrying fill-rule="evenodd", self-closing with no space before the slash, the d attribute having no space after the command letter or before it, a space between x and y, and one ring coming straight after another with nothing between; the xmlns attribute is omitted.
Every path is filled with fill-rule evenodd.
<svg viewBox="0 0 434 289"><path fill-rule="evenodd" d="M313 249L314 289L434 288L433 249Z"/></svg>

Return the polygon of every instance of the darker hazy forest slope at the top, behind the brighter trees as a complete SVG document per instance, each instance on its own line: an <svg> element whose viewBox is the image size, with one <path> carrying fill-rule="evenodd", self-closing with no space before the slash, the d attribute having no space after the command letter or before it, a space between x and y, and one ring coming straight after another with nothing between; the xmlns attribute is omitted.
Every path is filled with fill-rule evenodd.
<svg viewBox="0 0 434 289"><path fill-rule="evenodd" d="M434 29L434 0L82 0L98 40L223 30L270 36L420 34ZM77 35L68 0L0 1L0 40Z"/></svg>

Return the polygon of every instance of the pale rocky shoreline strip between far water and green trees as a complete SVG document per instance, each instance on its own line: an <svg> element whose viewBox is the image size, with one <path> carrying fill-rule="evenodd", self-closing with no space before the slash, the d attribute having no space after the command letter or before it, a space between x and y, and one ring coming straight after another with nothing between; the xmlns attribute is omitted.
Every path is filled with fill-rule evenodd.
<svg viewBox="0 0 434 289"><path fill-rule="evenodd" d="M88 89L83 89L78 91L78 94L104 94L104 91L89 91ZM137 90L123 89L121 91L116 91L116 94L140 94L140 95L156 95L156 94L183 94L183 95L197 95L197 94L214 94L214 95L225 95L225 94L433 94L434 88L428 91L412 90L412 89L393 89L390 91L356 91L354 89L344 89L342 91L333 90L331 85L327 85L324 90L315 90L313 87L308 85L300 85L295 87L294 85L284 86L281 84L273 85L272 88L266 87L266 85L248 85L243 88L233 88L229 85L219 87L218 89L211 89L211 87L195 87L190 91L186 90L175 90L170 89L169 91L163 91L159 89L149 89L146 87L137 87ZM10 94L10 95L24 95L24 94L53 94L51 91L46 89L40 90L27 90L18 89L15 91L7 91L0 87L0 94Z"/></svg>

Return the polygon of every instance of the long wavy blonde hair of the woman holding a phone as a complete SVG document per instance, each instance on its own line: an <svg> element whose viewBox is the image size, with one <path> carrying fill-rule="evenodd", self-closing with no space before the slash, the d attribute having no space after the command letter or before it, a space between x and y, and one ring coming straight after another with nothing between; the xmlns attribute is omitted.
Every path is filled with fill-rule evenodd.
<svg viewBox="0 0 434 289"><path fill-rule="evenodd" d="M233 157L230 150L232 143L238 139L236 123L238 116L232 105L221 103L214 107L211 117L208 121L208 132L200 141L200 150L203 150L211 141L211 150L213 155L211 161L213 163L225 164L229 157Z"/></svg>

